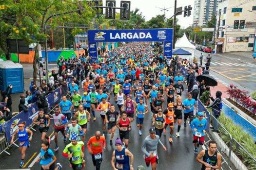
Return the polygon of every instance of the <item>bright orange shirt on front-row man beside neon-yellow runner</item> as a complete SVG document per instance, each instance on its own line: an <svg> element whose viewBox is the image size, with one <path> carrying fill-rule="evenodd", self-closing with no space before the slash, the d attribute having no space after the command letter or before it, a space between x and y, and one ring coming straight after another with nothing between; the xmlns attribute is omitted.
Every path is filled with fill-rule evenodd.
<svg viewBox="0 0 256 170"><path fill-rule="evenodd" d="M106 140L105 137L100 136L99 139L96 139L96 136L92 136L88 143L87 148L90 151L92 151L93 154L98 154L103 152L103 148L106 147Z"/></svg>

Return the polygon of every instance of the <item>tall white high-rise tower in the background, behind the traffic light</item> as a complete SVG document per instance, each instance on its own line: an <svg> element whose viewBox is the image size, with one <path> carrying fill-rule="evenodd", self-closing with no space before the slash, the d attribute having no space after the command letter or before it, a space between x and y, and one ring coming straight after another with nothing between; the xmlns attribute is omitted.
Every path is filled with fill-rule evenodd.
<svg viewBox="0 0 256 170"><path fill-rule="evenodd" d="M222 0L195 0L193 25L203 26L216 14L217 4Z"/></svg>

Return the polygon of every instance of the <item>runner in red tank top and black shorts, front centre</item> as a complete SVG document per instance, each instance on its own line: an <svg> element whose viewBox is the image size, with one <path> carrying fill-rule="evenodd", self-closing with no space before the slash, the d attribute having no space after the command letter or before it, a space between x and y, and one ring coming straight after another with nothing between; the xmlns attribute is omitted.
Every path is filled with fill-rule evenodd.
<svg viewBox="0 0 256 170"><path fill-rule="evenodd" d="M128 148L129 132L131 131L130 118L127 117L126 112L122 112L121 118L117 121L120 139L124 142L125 148Z"/></svg>

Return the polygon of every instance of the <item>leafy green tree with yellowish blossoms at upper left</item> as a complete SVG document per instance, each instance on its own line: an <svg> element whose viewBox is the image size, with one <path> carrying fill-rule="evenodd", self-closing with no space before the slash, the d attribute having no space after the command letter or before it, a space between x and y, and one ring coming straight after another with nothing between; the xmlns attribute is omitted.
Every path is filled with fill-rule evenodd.
<svg viewBox="0 0 256 170"><path fill-rule="evenodd" d="M5 0L0 8L0 51L7 55L6 37L22 38L28 43L39 43L43 42L45 37L49 38L44 34L44 22L52 14L80 9L80 14L53 17L52 23L58 25L64 21L73 21L89 24L91 18L95 16L95 11L87 3L80 0ZM82 30L74 29L73 33L79 31ZM35 39L31 38L32 35ZM37 47L33 61L34 83L37 81Z"/></svg>

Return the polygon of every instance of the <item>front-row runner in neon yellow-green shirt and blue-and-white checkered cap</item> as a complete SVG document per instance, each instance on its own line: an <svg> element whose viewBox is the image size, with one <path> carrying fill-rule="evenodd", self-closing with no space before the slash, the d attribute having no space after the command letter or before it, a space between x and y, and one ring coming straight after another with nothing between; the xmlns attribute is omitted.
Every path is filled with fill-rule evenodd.
<svg viewBox="0 0 256 170"><path fill-rule="evenodd" d="M62 155L69 159L73 170L81 170L85 166L84 157L84 143L77 141L77 134L71 135L71 143L69 143L62 152Z"/></svg>

